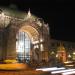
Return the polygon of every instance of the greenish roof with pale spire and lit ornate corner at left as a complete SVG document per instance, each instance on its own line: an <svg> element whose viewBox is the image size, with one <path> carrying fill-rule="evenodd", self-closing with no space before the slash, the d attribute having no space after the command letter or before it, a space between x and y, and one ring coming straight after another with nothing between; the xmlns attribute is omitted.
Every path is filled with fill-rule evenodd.
<svg viewBox="0 0 75 75"><path fill-rule="evenodd" d="M27 20L28 18L35 20L38 17L31 14L30 10L28 11L28 13L26 13L10 8L2 8L2 7L0 8L0 27L4 27L4 24L5 27L8 26L10 20L12 19Z"/></svg>

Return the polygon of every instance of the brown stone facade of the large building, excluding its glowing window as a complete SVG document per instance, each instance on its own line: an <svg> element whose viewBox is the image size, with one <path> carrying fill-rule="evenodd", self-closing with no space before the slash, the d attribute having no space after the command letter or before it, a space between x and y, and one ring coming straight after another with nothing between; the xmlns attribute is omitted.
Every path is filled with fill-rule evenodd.
<svg viewBox="0 0 75 75"><path fill-rule="evenodd" d="M7 12L10 13L11 15L15 14L9 11ZM22 14L17 13L17 14L19 15L17 17L8 16L8 15L1 16L1 18L4 17L4 22L8 21L5 18L8 18L10 21L7 26L4 25L5 23L3 22L0 25L1 26L0 28L3 31L3 33L0 31L0 34L1 34L0 36L0 43L1 43L0 44L0 56L2 56L1 59L16 59L16 34L20 30L22 30L22 31L30 33L30 36L31 36L30 38L32 40L31 52L35 53L35 56L31 57L31 59L36 57L36 51L34 49L34 46L38 45L39 46L38 48L39 59L37 60L41 61L42 59L44 59L48 61L47 52L50 49L49 48L50 38L49 38L48 25L45 24L42 19L35 17L34 15L31 15L30 11L28 12L28 14L25 14L23 18L20 18L20 16L23 13ZM36 43L36 41L38 41L38 43ZM42 51L41 51L41 46L40 46L41 44L44 47Z"/></svg>

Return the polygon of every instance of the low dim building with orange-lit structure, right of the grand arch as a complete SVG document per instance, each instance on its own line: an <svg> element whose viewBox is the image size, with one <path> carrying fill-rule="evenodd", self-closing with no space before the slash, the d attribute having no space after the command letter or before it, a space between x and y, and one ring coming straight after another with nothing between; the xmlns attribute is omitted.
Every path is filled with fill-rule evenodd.
<svg viewBox="0 0 75 75"><path fill-rule="evenodd" d="M50 53L54 52L57 59L60 61L75 61L75 43L62 40L50 40ZM62 60L61 60L62 58Z"/></svg>

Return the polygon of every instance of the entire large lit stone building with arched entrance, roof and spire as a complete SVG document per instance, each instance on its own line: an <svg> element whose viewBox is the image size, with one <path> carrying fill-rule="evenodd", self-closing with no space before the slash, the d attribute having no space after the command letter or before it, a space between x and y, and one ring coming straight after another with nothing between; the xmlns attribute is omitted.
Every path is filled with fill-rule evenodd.
<svg viewBox="0 0 75 75"><path fill-rule="evenodd" d="M48 61L49 27L30 13L4 9L0 13L0 59Z"/></svg>

